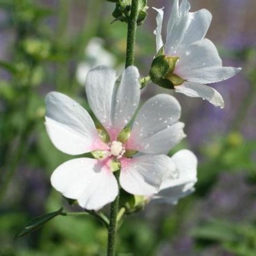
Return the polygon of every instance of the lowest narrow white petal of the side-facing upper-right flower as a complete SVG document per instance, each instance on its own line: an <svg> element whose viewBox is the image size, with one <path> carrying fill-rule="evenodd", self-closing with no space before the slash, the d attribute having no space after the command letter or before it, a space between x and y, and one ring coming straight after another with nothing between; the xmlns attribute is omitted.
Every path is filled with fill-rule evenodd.
<svg viewBox="0 0 256 256"><path fill-rule="evenodd" d="M205 84L184 82L175 87L176 92L183 93L189 97L200 97L206 99L216 107L224 108L224 100L219 92Z"/></svg>

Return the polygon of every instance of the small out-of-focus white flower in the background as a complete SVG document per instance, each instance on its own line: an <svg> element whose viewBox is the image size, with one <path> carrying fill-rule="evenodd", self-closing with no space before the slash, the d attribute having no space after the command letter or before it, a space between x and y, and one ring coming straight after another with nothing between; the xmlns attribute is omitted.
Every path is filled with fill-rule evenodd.
<svg viewBox="0 0 256 256"><path fill-rule="evenodd" d="M84 49L86 61L80 62L77 66L77 81L82 86L84 86L86 82L86 76L90 69L98 65L106 65L108 67L115 66L115 56L107 51L103 45L103 39L94 37L88 42L86 49Z"/></svg>

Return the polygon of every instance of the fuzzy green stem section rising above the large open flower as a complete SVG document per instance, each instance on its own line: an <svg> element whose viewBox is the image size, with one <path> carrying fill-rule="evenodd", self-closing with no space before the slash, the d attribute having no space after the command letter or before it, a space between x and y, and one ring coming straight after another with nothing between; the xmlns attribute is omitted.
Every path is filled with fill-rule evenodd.
<svg viewBox="0 0 256 256"><path fill-rule="evenodd" d="M136 36L136 29L137 29L138 6L139 6L139 0L131 1L131 13L128 20L128 31L127 31L125 68L134 64L134 45L135 45L135 36Z"/></svg>

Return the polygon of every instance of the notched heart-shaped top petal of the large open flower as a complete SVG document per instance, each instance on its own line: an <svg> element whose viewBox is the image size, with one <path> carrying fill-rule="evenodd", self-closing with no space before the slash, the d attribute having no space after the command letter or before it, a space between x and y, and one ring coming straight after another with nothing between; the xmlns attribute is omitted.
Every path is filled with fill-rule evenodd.
<svg viewBox="0 0 256 256"><path fill-rule="evenodd" d="M131 120L140 98L139 72L134 66L126 68L121 82L116 83L116 72L107 67L92 69L86 80L89 105L115 140L119 132Z"/></svg>

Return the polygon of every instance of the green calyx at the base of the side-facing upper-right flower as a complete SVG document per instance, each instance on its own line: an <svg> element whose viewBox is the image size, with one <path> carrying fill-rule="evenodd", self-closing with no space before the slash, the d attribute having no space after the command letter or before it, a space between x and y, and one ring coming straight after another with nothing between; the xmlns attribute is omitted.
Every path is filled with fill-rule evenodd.
<svg viewBox="0 0 256 256"><path fill-rule="evenodd" d="M181 85L185 80L174 74L174 69L179 57L166 56L162 54L161 48L154 58L149 71L150 79L153 83L166 89L174 89L174 86Z"/></svg>

